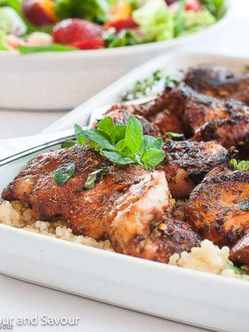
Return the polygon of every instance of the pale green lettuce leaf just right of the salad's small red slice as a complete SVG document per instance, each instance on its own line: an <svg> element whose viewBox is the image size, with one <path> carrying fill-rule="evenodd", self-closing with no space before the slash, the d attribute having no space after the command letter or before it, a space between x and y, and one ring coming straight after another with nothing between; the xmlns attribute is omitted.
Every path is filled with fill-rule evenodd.
<svg viewBox="0 0 249 332"><path fill-rule="evenodd" d="M139 24L148 42L159 42L174 37L174 15L164 0L147 0L134 10L133 19Z"/></svg>

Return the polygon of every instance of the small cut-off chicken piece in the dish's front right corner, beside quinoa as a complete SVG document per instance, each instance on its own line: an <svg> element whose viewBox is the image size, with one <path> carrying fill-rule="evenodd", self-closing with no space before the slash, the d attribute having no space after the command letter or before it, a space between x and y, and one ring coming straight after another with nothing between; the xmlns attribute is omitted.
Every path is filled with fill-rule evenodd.
<svg viewBox="0 0 249 332"><path fill-rule="evenodd" d="M249 266L249 233L232 247L229 259L240 266Z"/></svg>

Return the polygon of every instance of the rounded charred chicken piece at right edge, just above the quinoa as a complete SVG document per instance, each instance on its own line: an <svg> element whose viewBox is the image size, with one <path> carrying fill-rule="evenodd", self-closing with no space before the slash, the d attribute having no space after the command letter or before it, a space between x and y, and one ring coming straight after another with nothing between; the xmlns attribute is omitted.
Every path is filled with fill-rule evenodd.
<svg viewBox="0 0 249 332"><path fill-rule="evenodd" d="M185 217L203 239L233 246L249 231L249 172L216 167L190 194Z"/></svg>

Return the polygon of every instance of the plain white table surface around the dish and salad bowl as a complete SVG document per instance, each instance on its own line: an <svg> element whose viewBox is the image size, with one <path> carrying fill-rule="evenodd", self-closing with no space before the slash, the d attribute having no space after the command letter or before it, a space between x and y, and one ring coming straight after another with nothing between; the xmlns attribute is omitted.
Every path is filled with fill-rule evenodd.
<svg viewBox="0 0 249 332"><path fill-rule="evenodd" d="M183 50L249 57L249 0L232 0L232 5L234 19L219 35L199 41ZM0 139L32 135L63 114L0 110ZM80 323L74 327L15 326L13 331L205 331L0 275L0 318L31 317L36 314L51 317L80 317Z"/></svg>

